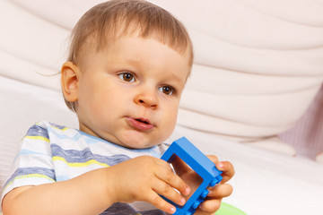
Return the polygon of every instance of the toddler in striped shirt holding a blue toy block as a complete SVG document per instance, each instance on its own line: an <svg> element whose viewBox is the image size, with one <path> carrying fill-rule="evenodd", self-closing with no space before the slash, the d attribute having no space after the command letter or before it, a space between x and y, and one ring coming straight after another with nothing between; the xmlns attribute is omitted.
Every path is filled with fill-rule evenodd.
<svg viewBox="0 0 323 215"><path fill-rule="evenodd" d="M160 159L176 125L193 50L183 25L144 1L109 1L77 22L61 69L65 103L79 130L40 122L22 140L2 207L11 214L166 214L199 185L180 159ZM213 214L234 174L218 162L221 185L196 214Z"/></svg>

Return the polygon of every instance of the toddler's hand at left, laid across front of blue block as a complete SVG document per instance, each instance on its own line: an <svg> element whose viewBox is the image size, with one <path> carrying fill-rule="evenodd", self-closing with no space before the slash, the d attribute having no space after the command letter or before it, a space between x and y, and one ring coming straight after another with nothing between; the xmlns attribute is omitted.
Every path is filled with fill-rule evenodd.
<svg viewBox="0 0 323 215"><path fill-rule="evenodd" d="M188 185L172 171L169 163L150 156L121 162L110 167L109 174L114 176L112 185L115 202L144 201L162 211L174 213L176 208L160 195L184 205L185 198L182 195L190 193Z"/></svg>

